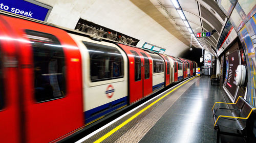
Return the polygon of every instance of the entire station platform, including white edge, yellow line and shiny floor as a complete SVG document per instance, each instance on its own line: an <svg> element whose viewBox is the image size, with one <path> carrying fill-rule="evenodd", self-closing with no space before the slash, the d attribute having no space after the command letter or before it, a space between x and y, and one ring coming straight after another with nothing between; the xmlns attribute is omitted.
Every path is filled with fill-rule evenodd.
<svg viewBox="0 0 256 143"><path fill-rule="evenodd" d="M211 108L223 94L208 76L189 78L77 143L216 142Z"/></svg>

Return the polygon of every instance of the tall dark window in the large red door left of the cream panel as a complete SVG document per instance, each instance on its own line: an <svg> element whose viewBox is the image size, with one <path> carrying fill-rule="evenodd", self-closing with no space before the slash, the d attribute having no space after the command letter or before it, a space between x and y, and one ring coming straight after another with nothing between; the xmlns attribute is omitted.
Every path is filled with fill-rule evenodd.
<svg viewBox="0 0 256 143"><path fill-rule="evenodd" d="M58 39L47 33L25 30L34 59L34 88L37 102L66 94L65 55Z"/></svg>

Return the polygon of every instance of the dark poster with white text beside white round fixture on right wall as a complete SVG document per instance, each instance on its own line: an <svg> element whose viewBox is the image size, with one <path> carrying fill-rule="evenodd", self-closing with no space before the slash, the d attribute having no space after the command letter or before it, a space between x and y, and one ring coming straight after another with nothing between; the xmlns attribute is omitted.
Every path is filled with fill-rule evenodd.
<svg viewBox="0 0 256 143"><path fill-rule="evenodd" d="M239 65L239 54L238 51L234 51L227 56L228 66L226 73L226 85L225 88L229 91L230 95L234 99L236 96L237 85L234 84L234 75L236 74L236 69Z"/></svg>

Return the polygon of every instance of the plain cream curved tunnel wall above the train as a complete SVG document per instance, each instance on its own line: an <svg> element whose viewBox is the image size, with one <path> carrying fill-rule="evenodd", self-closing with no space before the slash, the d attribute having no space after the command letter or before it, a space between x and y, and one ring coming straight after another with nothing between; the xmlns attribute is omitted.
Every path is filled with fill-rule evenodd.
<svg viewBox="0 0 256 143"><path fill-rule="evenodd" d="M37 0L53 7L48 21L74 29L79 18L110 28L127 36L167 49L166 54L181 56L189 47L128 0Z"/></svg>

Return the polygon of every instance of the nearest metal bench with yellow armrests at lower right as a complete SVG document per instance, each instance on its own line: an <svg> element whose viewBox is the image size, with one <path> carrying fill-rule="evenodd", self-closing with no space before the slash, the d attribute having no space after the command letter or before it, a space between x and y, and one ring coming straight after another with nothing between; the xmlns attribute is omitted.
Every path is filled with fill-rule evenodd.
<svg viewBox="0 0 256 143"><path fill-rule="evenodd" d="M232 108L222 107L227 104L231 104ZM211 111L214 117L214 129L217 130L217 142L220 141L220 134L241 136L248 142L248 129L251 130L248 126L250 126L250 118L253 117L252 114L255 113L256 108L239 96L236 103L216 102ZM220 127L236 130L236 133L223 132Z"/></svg>

